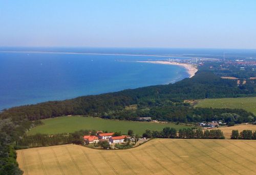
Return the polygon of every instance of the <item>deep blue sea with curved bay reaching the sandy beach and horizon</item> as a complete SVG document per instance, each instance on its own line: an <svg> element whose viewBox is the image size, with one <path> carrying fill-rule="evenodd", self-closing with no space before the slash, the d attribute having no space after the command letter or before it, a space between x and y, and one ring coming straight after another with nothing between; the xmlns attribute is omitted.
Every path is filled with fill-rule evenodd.
<svg viewBox="0 0 256 175"><path fill-rule="evenodd" d="M31 53L31 51L58 52L58 54ZM99 55L61 54L61 52L98 53ZM82 95L175 83L189 77L186 69L180 66L136 62L166 59L166 57L145 56L153 54L158 56L174 55L182 59L182 56L189 54L217 57L218 54L222 55L222 51L0 47L0 110Z"/></svg>

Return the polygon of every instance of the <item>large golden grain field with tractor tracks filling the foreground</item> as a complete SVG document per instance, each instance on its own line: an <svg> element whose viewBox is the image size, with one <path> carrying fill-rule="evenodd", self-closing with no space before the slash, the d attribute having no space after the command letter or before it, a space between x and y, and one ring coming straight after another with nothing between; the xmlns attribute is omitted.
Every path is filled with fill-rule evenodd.
<svg viewBox="0 0 256 175"><path fill-rule="evenodd" d="M139 147L102 151L60 145L17 151L33 174L256 174L255 140L154 139Z"/></svg>

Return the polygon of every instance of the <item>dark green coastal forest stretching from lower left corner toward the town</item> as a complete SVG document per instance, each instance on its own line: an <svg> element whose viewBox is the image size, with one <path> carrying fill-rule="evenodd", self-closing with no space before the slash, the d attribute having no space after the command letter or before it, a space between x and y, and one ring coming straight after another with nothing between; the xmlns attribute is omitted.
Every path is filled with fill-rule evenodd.
<svg viewBox="0 0 256 175"><path fill-rule="evenodd" d="M255 95L253 81L238 86L235 81L221 79L211 71L199 70L193 78L175 84L127 89L3 110L0 113L0 172L22 173L17 167L14 145L26 131L40 124L39 119L64 115L90 115L136 120L139 116L152 116L163 121L197 122L222 119L225 122L241 123L250 122L256 117L241 109L193 108L183 103L184 99ZM137 105L138 108L126 110L125 107L130 105Z"/></svg>

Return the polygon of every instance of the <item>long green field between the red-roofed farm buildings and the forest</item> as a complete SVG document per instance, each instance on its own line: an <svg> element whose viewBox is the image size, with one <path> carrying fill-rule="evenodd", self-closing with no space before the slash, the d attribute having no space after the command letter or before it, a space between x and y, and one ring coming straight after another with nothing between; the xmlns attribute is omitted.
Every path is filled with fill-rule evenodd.
<svg viewBox="0 0 256 175"><path fill-rule="evenodd" d="M142 135L146 129L162 130L164 127L173 127L179 130L186 126L169 124L169 123L153 123L141 121L124 121L110 120L95 117L82 116L65 116L41 120L43 125L31 129L28 134L58 134L72 133L78 130L101 130L101 131L121 131L126 134L128 130L133 130L135 134Z"/></svg>

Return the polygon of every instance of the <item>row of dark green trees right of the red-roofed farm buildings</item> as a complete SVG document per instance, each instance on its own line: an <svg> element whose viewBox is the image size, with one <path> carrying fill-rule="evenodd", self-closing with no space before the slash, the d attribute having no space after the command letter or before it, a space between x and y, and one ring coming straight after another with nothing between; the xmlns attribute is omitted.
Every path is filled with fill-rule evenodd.
<svg viewBox="0 0 256 175"><path fill-rule="evenodd" d="M177 135L178 134L178 135ZM225 139L221 130L193 130L180 129L179 132L175 128L165 127L162 131L146 130L142 137L145 138L180 138L180 139Z"/></svg>

